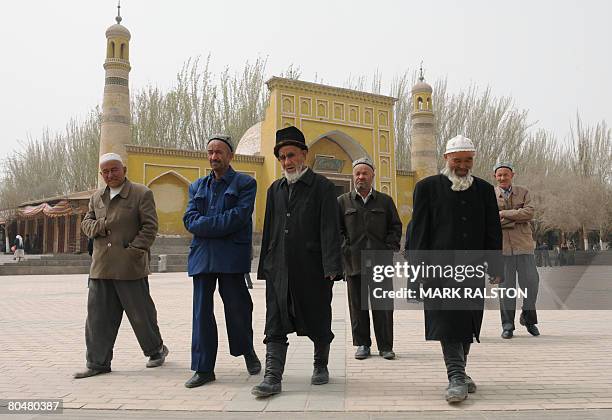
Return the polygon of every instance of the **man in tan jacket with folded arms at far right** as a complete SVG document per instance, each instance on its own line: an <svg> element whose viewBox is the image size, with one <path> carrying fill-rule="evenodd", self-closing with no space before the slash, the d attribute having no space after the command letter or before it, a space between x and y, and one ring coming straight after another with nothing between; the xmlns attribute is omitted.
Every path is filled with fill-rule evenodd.
<svg viewBox="0 0 612 420"><path fill-rule="evenodd" d="M529 224L533 219L534 207L527 188L512 185L514 169L511 163L498 162L494 175L497 181L495 195L504 237L504 281L500 287L515 288L518 275L519 287L527 291L519 321L531 335L538 336L540 332L536 326L538 316L535 304L540 279L533 255L535 243ZM500 309L502 338L512 338L516 298L501 298Z"/></svg>

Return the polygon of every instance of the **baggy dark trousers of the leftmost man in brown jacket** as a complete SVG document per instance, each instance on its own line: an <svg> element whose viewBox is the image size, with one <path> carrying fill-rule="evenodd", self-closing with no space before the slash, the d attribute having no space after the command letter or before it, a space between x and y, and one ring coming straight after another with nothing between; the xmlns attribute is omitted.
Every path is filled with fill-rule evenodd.
<svg viewBox="0 0 612 420"><path fill-rule="evenodd" d="M90 279L85 323L88 368L110 368L123 311L145 356L152 356L161 350L163 342L148 279Z"/></svg>

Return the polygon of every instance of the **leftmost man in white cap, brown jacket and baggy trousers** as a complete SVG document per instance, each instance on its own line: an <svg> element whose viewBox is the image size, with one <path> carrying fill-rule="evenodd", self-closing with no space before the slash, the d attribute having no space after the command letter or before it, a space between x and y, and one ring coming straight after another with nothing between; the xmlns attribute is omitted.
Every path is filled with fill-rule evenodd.
<svg viewBox="0 0 612 420"><path fill-rule="evenodd" d="M85 343L87 369L75 378L111 371L113 346L125 311L147 367L164 363L168 348L157 326L157 311L149 294L150 248L157 234L157 213L150 189L126 178L121 157L100 157L106 187L89 200L81 229L93 239Z"/></svg>

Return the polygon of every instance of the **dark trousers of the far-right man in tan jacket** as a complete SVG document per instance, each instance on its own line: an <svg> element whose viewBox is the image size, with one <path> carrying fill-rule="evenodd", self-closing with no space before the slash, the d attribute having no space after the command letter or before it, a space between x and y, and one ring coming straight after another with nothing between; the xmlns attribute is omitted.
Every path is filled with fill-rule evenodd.
<svg viewBox="0 0 612 420"><path fill-rule="evenodd" d="M526 325L538 323L536 313L536 300L540 277L535 265L535 258L531 254L504 256L504 281L500 287L516 287L527 290L527 297L523 298L521 318ZM514 330L514 315L516 312L516 298L504 296L500 299L501 321L504 330Z"/></svg>

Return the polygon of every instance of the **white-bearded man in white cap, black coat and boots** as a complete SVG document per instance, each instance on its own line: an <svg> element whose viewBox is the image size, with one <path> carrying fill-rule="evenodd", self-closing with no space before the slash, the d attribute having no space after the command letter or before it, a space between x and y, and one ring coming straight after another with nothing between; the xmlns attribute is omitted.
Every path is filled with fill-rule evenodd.
<svg viewBox="0 0 612 420"><path fill-rule="evenodd" d="M455 256L466 255L465 250L495 251L482 253L481 261L472 263L486 260L491 283L499 284L503 260L497 201L493 186L471 174L475 152L470 139L461 135L454 137L447 143L446 167L442 173L416 184L406 247L411 257L417 256L411 261L413 265L423 260L431 263L442 254L437 252L432 256L426 251L447 251ZM472 253L472 258L474 254L478 253ZM460 280L435 278L424 281L424 289L432 289L457 284ZM473 280L468 287L483 290L484 277ZM425 339L440 341L442 345L449 379L446 400L449 403L463 401L468 392L476 391L476 384L465 373L465 366L470 344L474 338L479 341L484 299L461 302L426 298L424 308Z"/></svg>

